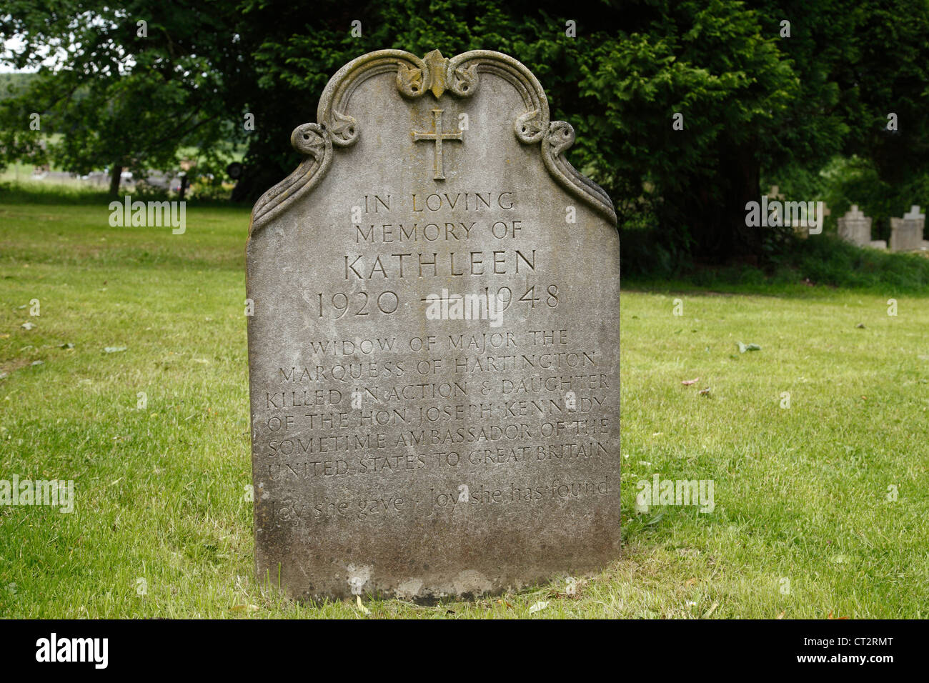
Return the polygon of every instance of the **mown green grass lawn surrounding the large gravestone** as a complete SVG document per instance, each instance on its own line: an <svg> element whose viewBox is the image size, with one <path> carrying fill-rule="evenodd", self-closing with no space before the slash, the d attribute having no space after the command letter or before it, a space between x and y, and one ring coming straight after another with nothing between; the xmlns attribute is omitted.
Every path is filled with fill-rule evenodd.
<svg viewBox="0 0 929 683"><path fill-rule="evenodd" d="M0 617L363 616L255 582L247 210L189 207L183 235L108 216L105 204L0 204L0 479L73 479L75 495L72 514L0 506ZM929 617L929 298L772 295L624 290L623 552L578 595L556 577L502 598L365 609ZM655 474L712 479L713 512L636 514L636 482Z"/></svg>

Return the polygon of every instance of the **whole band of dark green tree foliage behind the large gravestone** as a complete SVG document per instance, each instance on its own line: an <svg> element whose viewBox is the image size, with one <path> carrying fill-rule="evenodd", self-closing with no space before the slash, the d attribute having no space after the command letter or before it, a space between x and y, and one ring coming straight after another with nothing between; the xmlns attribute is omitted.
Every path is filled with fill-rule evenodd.
<svg viewBox="0 0 929 683"><path fill-rule="evenodd" d="M537 74L553 118L577 130L569 160L608 190L631 246L624 255L649 268L775 264L784 237L744 220L768 183L792 199L826 199L827 227L857 203L875 216L877 237L887 217L929 204L926 0L136 0L120 10L17 0L8 12L0 37L26 34L36 45L70 35L81 12L106 20L78 25L89 47L42 73L28 98L0 104L0 157L42 155L35 136L7 128L21 128L40 102L54 130L70 134L51 150L68 168L166 164L182 145L214 153L243 142L235 198L254 200L294 169L291 131L315 120L322 88L350 59L387 47L485 48ZM138 19L149 20L146 39ZM67 105L50 97L69 92ZM120 125L128 112L141 129L131 139ZM242 128L246 112L254 131ZM892 112L896 131L887 129ZM643 225L658 228L653 239L629 230Z"/></svg>

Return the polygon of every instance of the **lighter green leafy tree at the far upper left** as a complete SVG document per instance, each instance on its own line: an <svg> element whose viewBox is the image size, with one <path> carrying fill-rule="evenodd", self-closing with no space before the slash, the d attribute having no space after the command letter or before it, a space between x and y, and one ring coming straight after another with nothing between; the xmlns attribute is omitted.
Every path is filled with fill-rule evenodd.
<svg viewBox="0 0 929 683"><path fill-rule="evenodd" d="M0 161L40 155L28 125L33 112L46 156L74 173L109 166L111 194L125 168L144 174L177 164L183 146L214 149L228 132L224 59L232 41L211 24L216 28L202 9L163 3L14 3L0 20L0 37L25 38L12 63L41 68L0 103ZM49 47L51 66L43 64Z"/></svg>

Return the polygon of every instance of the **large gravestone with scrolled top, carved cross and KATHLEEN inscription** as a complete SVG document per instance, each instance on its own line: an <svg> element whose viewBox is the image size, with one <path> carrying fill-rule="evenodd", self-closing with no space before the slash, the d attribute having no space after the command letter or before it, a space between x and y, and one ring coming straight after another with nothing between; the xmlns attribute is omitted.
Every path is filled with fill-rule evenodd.
<svg viewBox="0 0 929 683"><path fill-rule="evenodd" d="M364 55L317 122L247 246L259 580L427 601L602 568L619 236L573 128L483 50Z"/></svg>

